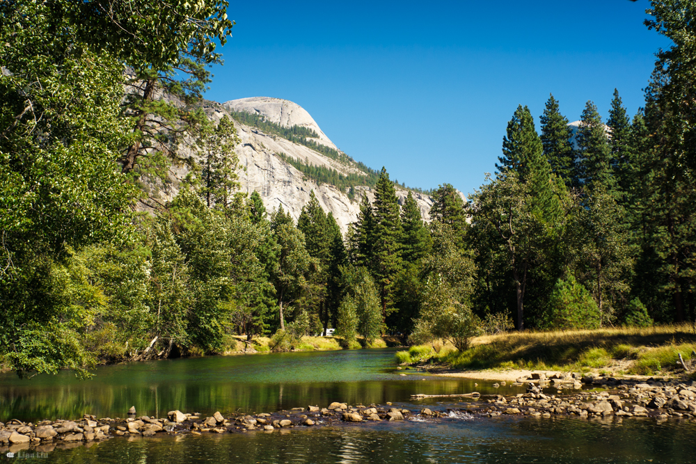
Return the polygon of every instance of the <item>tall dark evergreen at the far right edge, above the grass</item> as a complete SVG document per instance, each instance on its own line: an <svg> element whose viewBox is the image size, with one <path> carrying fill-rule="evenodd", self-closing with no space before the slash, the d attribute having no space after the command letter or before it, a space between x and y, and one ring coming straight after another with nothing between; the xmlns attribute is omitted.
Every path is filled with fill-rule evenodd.
<svg viewBox="0 0 696 464"><path fill-rule="evenodd" d="M694 117L689 95L693 82L696 36L683 29L681 13L654 3L656 27L677 45L658 54L660 60L646 89L645 122L649 143L645 164L647 175L644 225L639 273L662 298L642 291L654 319L685 321L696 317L696 182L693 159ZM692 71L690 71L692 70Z"/></svg>

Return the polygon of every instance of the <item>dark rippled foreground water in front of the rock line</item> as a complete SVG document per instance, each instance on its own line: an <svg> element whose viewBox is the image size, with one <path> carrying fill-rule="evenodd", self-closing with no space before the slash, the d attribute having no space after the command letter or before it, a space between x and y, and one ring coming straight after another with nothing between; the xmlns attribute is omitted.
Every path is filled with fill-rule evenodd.
<svg viewBox="0 0 696 464"><path fill-rule="evenodd" d="M693 422L500 417L283 433L113 439L56 449L43 463L687 463ZM31 460L29 460L31 462ZM39 462L38 460L36 462Z"/></svg>

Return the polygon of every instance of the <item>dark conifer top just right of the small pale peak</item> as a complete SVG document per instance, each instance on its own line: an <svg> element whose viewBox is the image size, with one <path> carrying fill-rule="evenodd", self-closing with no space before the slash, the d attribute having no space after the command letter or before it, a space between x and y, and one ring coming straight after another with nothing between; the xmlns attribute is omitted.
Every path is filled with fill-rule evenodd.
<svg viewBox="0 0 696 464"><path fill-rule="evenodd" d="M580 179L585 191L595 184L603 184L609 191L615 189L612 175L612 154L607 129L592 102L587 102L576 136L578 143L578 165L576 177Z"/></svg>

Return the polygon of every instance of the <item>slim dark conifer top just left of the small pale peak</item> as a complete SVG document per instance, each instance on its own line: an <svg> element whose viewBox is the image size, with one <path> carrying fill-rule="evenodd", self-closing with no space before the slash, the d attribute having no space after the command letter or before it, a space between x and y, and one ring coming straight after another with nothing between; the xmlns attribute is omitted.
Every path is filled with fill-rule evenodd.
<svg viewBox="0 0 696 464"><path fill-rule="evenodd" d="M558 102L549 95L541 122L541 145L544 157L551 164L551 171L563 179L567 187L574 185L575 151L570 139L573 136L568 119L558 109Z"/></svg>

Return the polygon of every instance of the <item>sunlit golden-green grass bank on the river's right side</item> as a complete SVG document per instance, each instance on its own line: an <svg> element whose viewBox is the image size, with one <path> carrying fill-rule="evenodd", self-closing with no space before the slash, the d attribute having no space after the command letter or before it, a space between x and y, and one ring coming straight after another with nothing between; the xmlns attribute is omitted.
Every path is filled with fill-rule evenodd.
<svg viewBox="0 0 696 464"><path fill-rule="evenodd" d="M477 337L464 353L443 349L431 353L431 357L459 369L600 370L617 375L652 375L677 369L677 353L688 360L695 350L693 326L677 325L488 335ZM410 351L406 354L398 355L397 360L408 362Z"/></svg>

